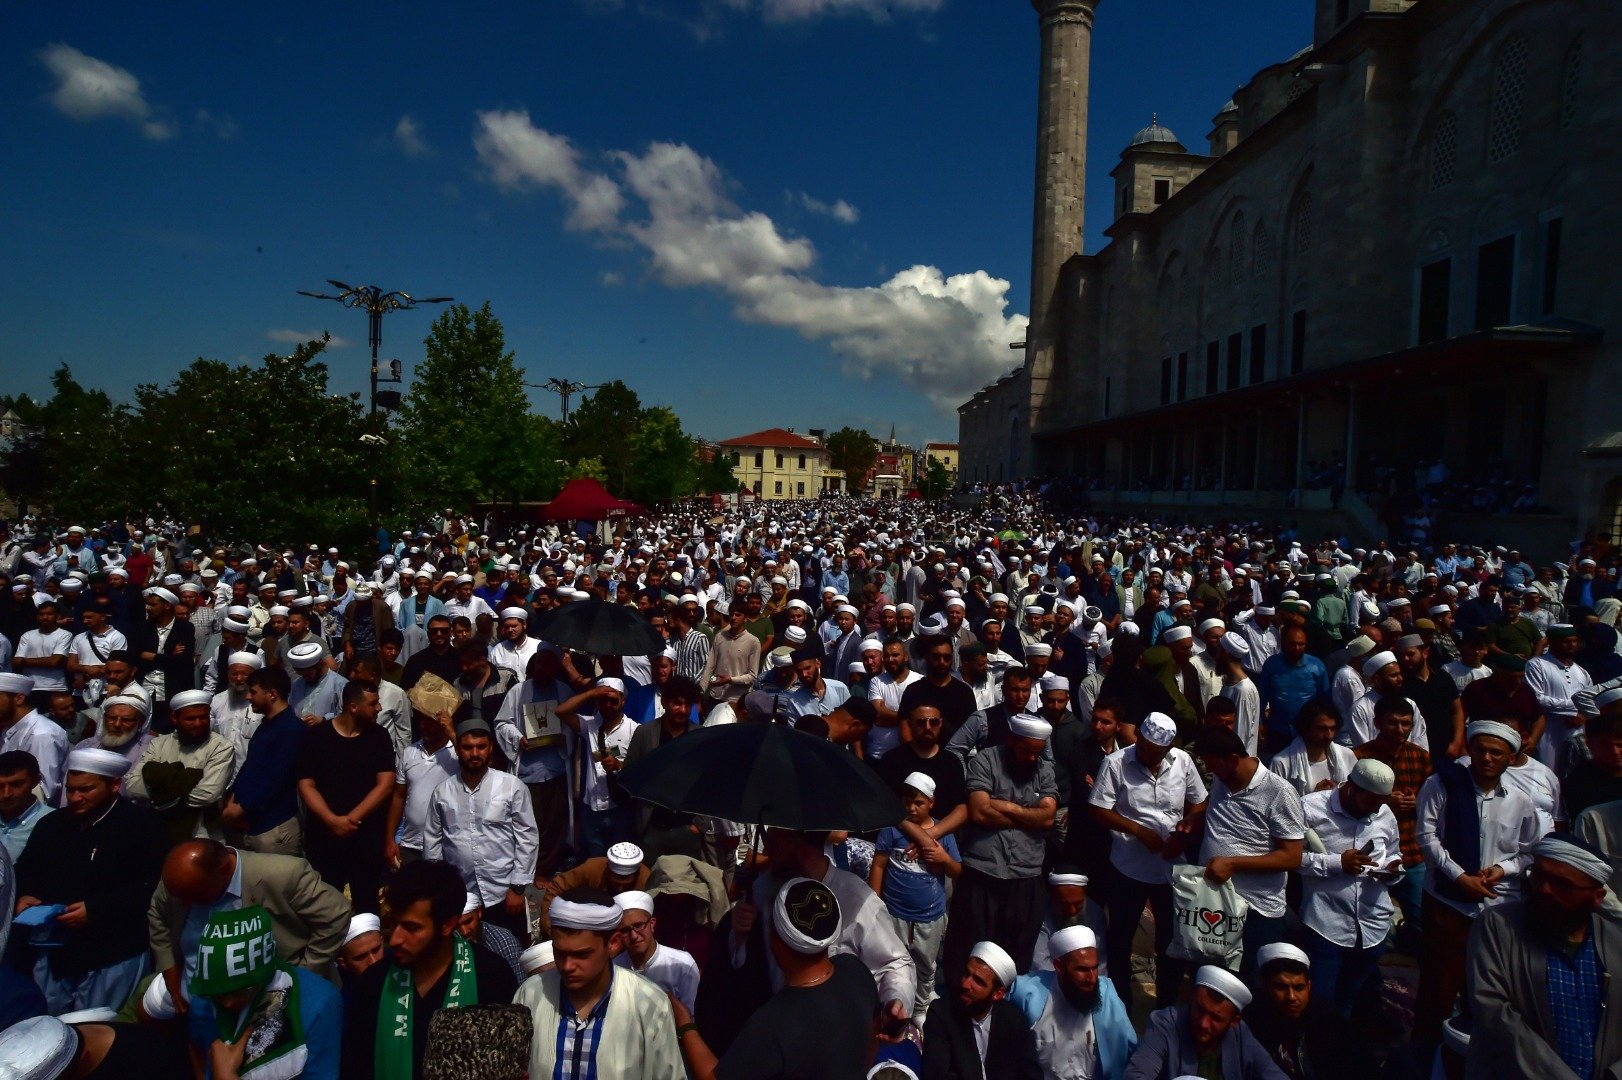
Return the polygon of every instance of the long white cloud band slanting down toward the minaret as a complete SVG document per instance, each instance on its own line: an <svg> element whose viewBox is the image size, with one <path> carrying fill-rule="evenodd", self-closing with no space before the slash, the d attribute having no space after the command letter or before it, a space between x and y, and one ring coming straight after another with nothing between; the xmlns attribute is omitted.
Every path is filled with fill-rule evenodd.
<svg viewBox="0 0 1622 1080"><path fill-rule="evenodd" d="M568 138L535 128L524 112L485 112L478 122L474 144L498 186L556 190L571 227L641 246L667 285L719 289L740 319L830 342L855 376L894 375L950 407L1002 375L1009 342L1025 336L1027 318L1007 313L1009 282L985 271L913 266L878 285L817 282L814 245L738 208L720 167L689 146L608 154L616 178L586 167Z"/></svg>

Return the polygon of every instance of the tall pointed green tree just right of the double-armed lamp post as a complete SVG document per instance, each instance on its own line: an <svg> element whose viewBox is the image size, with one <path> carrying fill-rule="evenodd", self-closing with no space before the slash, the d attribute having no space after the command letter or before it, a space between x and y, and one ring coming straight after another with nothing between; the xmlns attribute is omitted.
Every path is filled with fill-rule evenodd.
<svg viewBox="0 0 1622 1080"><path fill-rule="evenodd" d="M540 498L547 431L529 423L524 376L501 319L485 302L440 313L423 339L410 392L401 402L394 456L410 464L414 490L464 509L482 501Z"/></svg>

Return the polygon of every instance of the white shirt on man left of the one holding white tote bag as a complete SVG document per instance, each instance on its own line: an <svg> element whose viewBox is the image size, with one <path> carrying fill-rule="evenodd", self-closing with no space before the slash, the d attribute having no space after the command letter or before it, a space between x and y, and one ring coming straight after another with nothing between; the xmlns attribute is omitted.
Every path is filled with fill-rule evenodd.
<svg viewBox="0 0 1622 1080"><path fill-rule="evenodd" d="M1205 801L1205 782L1200 780L1194 759L1174 746L1161 759L1158 772L1150 772L1139 762L1135 746L1124 746L1105 757L1087 801L1147 825L1165 838L1182 821L1187 808ZM1109 861L1132 881L1171 884L1171 863L1145 848L1137 837L1111 830Z"/></svg>

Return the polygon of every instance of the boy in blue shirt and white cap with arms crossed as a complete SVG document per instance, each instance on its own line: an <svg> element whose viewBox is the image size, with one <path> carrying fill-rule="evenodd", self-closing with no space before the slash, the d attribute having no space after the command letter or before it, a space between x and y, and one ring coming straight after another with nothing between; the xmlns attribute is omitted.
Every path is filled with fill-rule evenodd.
<svg viewBox="0 0 1622 1080"><path fill-rule="evenodd" d="M934 825L934 780L921 772L908 774L902 780L902 806L915 825ZM895 919L895 936L907 945L918 968L913 1023L923 1025L929 1002L934 1001L934 966L946 941L946 879L963 872L957 838L947 834L941 837L939 846L916 851L907 834L890 825L879 832L874 848L868 884L889 908Z"/></svg>

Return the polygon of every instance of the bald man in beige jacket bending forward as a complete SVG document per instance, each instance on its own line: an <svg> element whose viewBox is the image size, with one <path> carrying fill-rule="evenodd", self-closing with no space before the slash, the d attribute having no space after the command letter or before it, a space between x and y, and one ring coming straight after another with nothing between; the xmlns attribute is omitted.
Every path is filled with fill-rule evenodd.
<svg viewBox="0 0 1622 1080"><path fill-rule="evenodd" d="M276 947L287 963L336 978L334 960L350 916L344 894L300 858L188 840L164 859L164 879L146 911L152 958L182 1010L180 988L191 976L209 916L255 903L271 913Z"/></svg>

